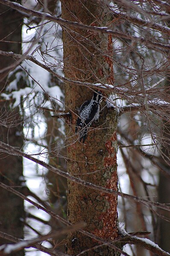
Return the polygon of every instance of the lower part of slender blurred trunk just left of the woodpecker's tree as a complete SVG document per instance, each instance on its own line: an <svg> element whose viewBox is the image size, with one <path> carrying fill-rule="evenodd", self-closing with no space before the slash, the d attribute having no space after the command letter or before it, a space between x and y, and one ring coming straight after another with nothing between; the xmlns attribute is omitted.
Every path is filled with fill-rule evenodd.
<svg viewBox="0 0 170 256"><path fill-rule="evenodd" d="M57 109L57 106L56 106ZM60 140L56 138L62 139L63 135L60 132L61 122L59 119L52 118L50 113L44 113L45 122L47 124L47 133L46 133L46 140L49 149L49 164L53 165L56 168L62 168L62 170L66 171L65 159L66 155L66 148L63 147L62 150L57 151L59 149ZM63 138L64 139L64 138ZM66 209L67 209L67 202L66 202L66 191L67 191L67 179L58 175L54 174L53 172L49 171L47 173L47 189L49 191L48 198L51 207L53 208L53 212L61 217L65 217ZM63 224L61 221L57 221L54 218L50 218L49 224L51 229L57 230ZM60 244L57 247L64 251L64 244L62 240L65 238L64 235L60 235L60 237L53 238L55 244Z"/></svg>

